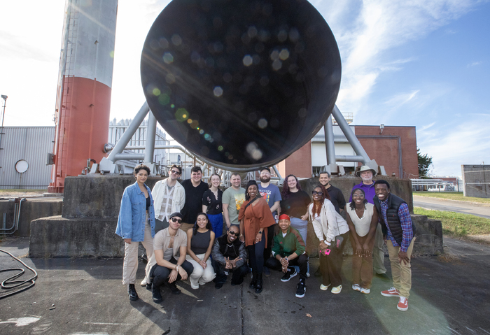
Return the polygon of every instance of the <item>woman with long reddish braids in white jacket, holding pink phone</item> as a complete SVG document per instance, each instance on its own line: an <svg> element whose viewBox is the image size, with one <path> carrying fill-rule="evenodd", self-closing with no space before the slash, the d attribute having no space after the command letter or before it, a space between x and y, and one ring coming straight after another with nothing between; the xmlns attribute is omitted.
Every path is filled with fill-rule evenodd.
<svg viewBox="0 0 490 335"><path fill-rule="evenodd" d="M311 194L313 195L313 202L308 208L309 217L316 237L320 240L320 245L318 245L322 277L320 290L326 291L332 285L332 293L338 294L342 291L342 277L340 276L342 252L344 251L345 239L349 234L349 225L335 211L330 196L323 185L316 186Z"/></svg>

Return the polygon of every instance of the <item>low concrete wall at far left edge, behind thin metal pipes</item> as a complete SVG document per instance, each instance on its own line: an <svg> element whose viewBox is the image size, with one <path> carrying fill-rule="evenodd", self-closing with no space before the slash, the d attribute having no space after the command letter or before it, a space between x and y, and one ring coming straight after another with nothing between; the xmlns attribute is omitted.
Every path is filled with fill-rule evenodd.
<svg viewBox="0 0 490 335"><path fill-rule="evenodd" d="M62 198L36 198L22 201L20 206L20 217L18 230L14 236L29 237L31 233L31 221L37 218L61 215L63 206ZM14 220L14 201L0 200L0 220L3 222L3 213L6 213L6 228L13 225ZM13 230L10 230L13 231ZM6 231L7 233L10 231Z"/></svg>

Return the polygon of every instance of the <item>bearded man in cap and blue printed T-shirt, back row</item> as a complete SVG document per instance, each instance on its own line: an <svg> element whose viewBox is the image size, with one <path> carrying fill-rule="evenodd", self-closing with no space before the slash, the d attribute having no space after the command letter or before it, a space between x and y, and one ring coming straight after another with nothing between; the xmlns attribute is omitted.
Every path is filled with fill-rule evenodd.
<svg viewBox="0 0 490 335"><path fill-rule="evenodd" d="M260 192L260 195L265 199L265 201L267 201L270 211L272 212L272 216L277 222L277 211L280 209L282 198L279 187L270 184L270 169L268 167L262 167L262 169L260 169L260 185L258 187L258 192ZM267 259L269 259L271 255L272 243L274 241L274 227L270 227L269 229L267 229L268 242L264 250L264 262L267 262ZM270 276L270 271L267 266L264 266L264 274L266 277Z"/></svg>

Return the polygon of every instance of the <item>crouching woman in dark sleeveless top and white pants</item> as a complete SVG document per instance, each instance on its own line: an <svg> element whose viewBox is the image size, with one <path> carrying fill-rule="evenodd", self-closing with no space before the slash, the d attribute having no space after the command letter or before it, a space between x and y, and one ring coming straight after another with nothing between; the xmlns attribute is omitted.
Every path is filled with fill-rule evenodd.
<svg viewBox="0 0 490 335"><path fill-rule="evenodd" d="M211 259L209 259L214 236L206 213L197 214L193 229L187 231L186 255L186 260L194 266L193 273L189 276L190 287L194 290L197 290L199 285L209 283L216 276L211 266Z"/></svg>

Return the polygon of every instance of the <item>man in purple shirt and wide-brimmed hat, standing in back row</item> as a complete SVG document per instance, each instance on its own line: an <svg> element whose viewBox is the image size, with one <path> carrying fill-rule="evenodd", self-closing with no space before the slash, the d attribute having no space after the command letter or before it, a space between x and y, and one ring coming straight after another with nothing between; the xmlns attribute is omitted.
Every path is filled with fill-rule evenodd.
<svg viewBox="0 0 490 335"><path fill-rule="evenodd" d="M374 182L372 181L372 177L376 176L376 171L371 169L367 165L360 166L359 171L357 171L357 176L360 177L363 181L358 185L354 185L352 190L356 188L360 188L365 193L365 199L370 204L374 205L374 196L376 192L374 192ZM352 195L349 198L349 202L352 201ZM384 250L383 250L383 231L381 230L381 224L378 222L378 227L376 229L376 235L374 237L374 248L372 249L372 268L376 276L382 278L384 280L388 280L388 276L386 275L386 267L384 267Z"/></svg>

